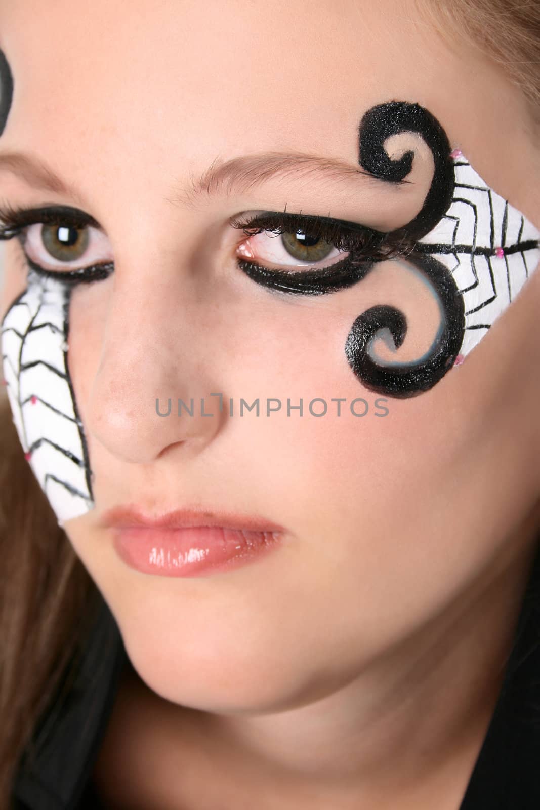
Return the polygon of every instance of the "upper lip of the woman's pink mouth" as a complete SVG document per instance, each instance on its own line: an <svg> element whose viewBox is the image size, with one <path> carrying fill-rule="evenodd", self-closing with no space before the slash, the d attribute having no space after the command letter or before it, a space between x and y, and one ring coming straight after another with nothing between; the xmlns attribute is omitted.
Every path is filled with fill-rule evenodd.
<svg viewBox="0 0 540 810"><path fill-rule="evenodd" d="M185 527L219 526L224 529L238 529L240 531L285 531L266 518L258 515L233 514L232 512L217 512L215 509L173 509L170 512L161 512L157 515L143 514L134 506L114 506L108 509L101 518L105 527L118 529L140 527L147 529L164 528L179 529Z"/></svg>

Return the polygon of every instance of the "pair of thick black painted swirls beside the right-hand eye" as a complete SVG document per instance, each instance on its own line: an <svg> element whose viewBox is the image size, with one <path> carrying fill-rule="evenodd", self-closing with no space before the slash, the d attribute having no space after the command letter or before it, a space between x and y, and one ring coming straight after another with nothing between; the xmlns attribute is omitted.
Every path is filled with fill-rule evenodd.
<svg viewBox="0 0 540 810"><path fill-rule="evenodd" d="M359 126L359 164L370 174L389 182L402 181L410 174L414 151L392 160L385 144L393 135L418 134L433 156L432 182L419 213L398 228L403 241L418 241L432 231L453 200L455 177L449 139L442 126L419 104L390 101L368 110ZM381 330L389 330L396 350L407 331L405 315L394 307L380 305L356 318L345 343L351 369L367 388L393 397L421 394L439 382L452 368L465 333L465 308L453 276L444 264L429 255L408 254L407 260L432 283L441 310L440 329L432 347L420 360L403 364L381 364L370 356L370 348Z"/></svg>

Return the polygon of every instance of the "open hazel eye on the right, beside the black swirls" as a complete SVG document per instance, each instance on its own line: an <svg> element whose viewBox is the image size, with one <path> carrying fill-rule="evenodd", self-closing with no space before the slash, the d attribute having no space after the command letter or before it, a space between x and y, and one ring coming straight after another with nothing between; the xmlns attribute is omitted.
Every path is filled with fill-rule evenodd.
<svg viewBox="0 0 540 810"><path fill-rule="evenodd" d="M302 264L324 267L342 259L347 252L318 234L304 231L257 233L238 246L238 254L261 264L271 262L274 266L295 267ZM292 260L292 261L291 261ZM322 263L321 263L322 262Z"/></svg>

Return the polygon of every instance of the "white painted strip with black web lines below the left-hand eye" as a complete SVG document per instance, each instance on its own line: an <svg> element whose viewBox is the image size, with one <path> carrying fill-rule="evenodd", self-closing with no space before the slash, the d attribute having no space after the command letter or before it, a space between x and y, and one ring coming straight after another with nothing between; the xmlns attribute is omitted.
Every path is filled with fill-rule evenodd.
<svg viewBox="0 0 540 810"><path fill-rule="evenodd" d="M83 424L67 364L70 285L28 271L2 321L2 363L25 457L59 522L93 508Z"/></svg>

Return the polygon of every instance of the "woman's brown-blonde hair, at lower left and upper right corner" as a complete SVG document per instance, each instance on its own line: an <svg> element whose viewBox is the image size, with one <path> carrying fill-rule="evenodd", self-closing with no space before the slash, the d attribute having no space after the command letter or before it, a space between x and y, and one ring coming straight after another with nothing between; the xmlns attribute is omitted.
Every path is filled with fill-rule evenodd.
<svg viewBox="0 0 540 810"><path fill-rule="evenodd" d="M540 4L418 0L444 36L466 37L516 83L540 119ZM26 462L0 395L0 808L40 715L83 654L97 589Z"/></svg>

